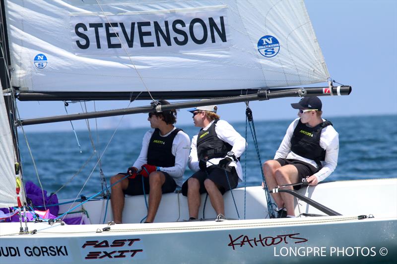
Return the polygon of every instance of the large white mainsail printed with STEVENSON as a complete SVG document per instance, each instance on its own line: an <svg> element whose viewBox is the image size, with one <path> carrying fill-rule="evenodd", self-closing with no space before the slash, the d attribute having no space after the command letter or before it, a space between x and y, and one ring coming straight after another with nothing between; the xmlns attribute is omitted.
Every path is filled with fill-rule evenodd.
<svg viewBox="0 0 397 264"><path fill-rule="evenodd" d="M230 90L329 77L303 1L9 0L5 7L20 90Z"/></svg>

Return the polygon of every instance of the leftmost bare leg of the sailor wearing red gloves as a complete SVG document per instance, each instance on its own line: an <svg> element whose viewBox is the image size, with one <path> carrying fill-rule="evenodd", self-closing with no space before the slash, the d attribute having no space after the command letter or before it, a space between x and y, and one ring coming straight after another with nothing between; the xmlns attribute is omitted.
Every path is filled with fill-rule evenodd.
<svg viewBox="0 0 397 264"><path fill-rule="evenodd" d="M110 178L110 183L114 184L115 182L123 179L125 176L123 174L117 174ZM126 190L128 187L128 178L120 181L119 183L112 186L112 193L110 195L110 202L112 205L113 212L113 220L116 223L122 222L122 213L124 208L124 193L123 190Z"/></svg>

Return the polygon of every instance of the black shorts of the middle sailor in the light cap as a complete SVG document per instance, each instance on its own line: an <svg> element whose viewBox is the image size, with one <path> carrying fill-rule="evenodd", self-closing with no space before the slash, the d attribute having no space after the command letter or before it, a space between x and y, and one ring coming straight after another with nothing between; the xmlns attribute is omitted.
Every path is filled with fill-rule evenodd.
<svg viewBox="0 0 397 264"><path fill-rule="evenodd" d="M218 185L218 189L222 195L226 191L236 188L239 182L239 176L237 175L237 171L234 167L232 167L231 172L225 173L225 170L219 168L218 166L210 166L207 168L207 171L199 170L195 174L193 174L190 178L196 178L199 180L200 194L207 192L204 186L205 179L210 179L216 185ZM182 185L182 194L184 196L188 196L188 180L185 181L184 184Z"/></svg>

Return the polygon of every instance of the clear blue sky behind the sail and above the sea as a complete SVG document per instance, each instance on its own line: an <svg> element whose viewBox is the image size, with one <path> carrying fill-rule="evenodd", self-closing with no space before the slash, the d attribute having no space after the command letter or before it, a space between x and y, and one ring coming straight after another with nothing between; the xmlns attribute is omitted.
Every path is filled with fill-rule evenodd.
<svg viewBox="0 0 397 264"><path fill-rule="evenodd" d="M396 0L307 0L311 18L331 78L350 85L349 96L321 97L323 116L394 114L397 117L397 1ZM319 84L314 86L321 86ZM251 102L255 120L296 117L290 104L297 98ZM173 101L170 101L173 102ZM132 106L147 106L149 101ZM128 101L97 102L97 110L125 108ZM88 102L89 111L94 109ZM245 121L245 104L222 105L218 114L229 122ZM79 104L69 113L81 112ZM63 102L18 102L21 118L66 114ZM121 116L97 119L102 129L116 128ZM92 119L93 120L93 119ZM91 121L93 122L93 121ZM178 125L193 125L192 114L178 112ZM86 129L85 121L73 121L76 130ZM128 115L120 128L148 126L147 114ZM25 126L26 132L69 131L70 122Z"/></svg>

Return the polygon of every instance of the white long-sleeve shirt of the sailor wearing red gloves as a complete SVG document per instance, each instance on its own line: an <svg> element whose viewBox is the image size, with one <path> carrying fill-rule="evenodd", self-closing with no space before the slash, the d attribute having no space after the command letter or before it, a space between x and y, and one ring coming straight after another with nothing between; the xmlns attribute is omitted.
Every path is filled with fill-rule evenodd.
<svg viewBox="0 0 397 264"><path fill-rule="evenodd" d="M166 135L161 135L161 137L167 137L174 131L176 128L174 127ZM154 129L151 129L145 133L142 139L142 148L140 150L139 157L133 163L133 166L140 169L143 164L147 163L147 150L149 147L150 138L152 137ZM175 183L181 187L183 183L183 174L185 172L186 164L189 159L189 150L190 150L190 138L189 136L183 132L179 131L176 134L174 141L172 142L171 153L175 156L175 166L172 167L159 167L160 171L167 172L171 177L174 178ZM153 164L155 165L155 164Z"/></svg>

